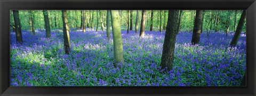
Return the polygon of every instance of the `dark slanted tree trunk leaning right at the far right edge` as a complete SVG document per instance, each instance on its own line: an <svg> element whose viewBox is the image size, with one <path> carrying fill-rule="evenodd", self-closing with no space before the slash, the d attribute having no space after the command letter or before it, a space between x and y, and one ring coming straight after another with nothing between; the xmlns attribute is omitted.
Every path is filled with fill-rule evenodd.
<svg viewBox="0 0 256 96"><path fill-rule="evenodd" d="M234 37L233 37L232 41L230 42L230 46L232 46L232 47L237 45L238 39L239 39L239 37L241 35L241 32L243 30L243 27L244 27L245 16L246 16L246 11L243 10L241 18L240 18L240 20L238 22L238 25L236 27L236 32L234 34Z"/></svg>

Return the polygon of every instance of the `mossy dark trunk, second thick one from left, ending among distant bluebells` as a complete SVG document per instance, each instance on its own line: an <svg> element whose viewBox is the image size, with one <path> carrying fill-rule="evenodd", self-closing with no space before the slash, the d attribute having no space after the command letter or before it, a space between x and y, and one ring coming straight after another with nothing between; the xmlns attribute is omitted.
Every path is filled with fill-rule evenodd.
<svg viewBox="0 0 256 96"><path fill-rule="evenodd" d="M51 37L51 28L50 28L50 22L49 22L47 10L43 10L43 14L44 14L46 38L50 38Z"/></svg>

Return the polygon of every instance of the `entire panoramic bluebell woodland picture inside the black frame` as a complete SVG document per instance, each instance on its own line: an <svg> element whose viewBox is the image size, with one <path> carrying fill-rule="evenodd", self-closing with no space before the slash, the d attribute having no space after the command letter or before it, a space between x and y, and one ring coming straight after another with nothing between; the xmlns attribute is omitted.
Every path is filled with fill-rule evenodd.
<svg viewBox="0 0 256 96"><path fill-rule="evenodd" d="M243 86L245 10L10 10L11 86Z"/></svg>

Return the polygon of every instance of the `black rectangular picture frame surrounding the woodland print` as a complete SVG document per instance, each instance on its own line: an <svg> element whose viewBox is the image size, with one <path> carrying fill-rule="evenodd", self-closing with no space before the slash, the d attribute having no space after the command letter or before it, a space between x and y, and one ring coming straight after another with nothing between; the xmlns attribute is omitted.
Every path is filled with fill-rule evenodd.
<svg viewBox="0 0 256 96"><path fill-rule="evenodd" d="M255 0L0 0L0 95L255 95ZM10 86L10 10L246 10L246 86Z"/></svg>

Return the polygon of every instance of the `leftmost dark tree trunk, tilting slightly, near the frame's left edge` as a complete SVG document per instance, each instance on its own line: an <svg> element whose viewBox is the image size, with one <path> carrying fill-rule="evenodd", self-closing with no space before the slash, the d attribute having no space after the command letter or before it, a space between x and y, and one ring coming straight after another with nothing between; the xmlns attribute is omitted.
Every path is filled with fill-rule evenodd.
<svg viewBox="0 0 256 96"><path fill-rule="evenodd" d="M16 42L23 43L22 34L21 34L21 27L20 27L20 16L18 10L13 10L13 19L15 24L15 34L16 34Z"/></svg>

